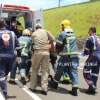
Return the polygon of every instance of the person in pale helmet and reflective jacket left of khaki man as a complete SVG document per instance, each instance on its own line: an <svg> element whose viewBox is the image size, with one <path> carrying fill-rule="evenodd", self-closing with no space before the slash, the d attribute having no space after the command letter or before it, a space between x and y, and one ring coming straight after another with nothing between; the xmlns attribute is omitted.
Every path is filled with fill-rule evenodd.
<svg viewBox="0 0 100 100"><path fill-rule="evenodd" d="M31 55L31 46L32 46L32 39L31 39L31 31L29 29L25 29L22 33L22 36L18 39L19 44L21 46L21 63L19 64L20 75L21 75L21 82L25 85L26 84L26 77L28 76L30 69L28 65L28 60Z"/></svg>

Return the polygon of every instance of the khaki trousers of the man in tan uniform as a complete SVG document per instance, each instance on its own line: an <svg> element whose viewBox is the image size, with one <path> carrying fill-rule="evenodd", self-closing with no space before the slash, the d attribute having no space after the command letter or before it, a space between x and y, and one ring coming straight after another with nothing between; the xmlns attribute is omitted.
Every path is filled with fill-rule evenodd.
<svg viewBox="0 0 100 100"><path fill-rule="evenodd" d="M49 52L34 51L32 55L32 75L31 75L31 89L37 86L37 75L41 69L41 88L47 91L48 88L48 74L49 74Z"/></svg>

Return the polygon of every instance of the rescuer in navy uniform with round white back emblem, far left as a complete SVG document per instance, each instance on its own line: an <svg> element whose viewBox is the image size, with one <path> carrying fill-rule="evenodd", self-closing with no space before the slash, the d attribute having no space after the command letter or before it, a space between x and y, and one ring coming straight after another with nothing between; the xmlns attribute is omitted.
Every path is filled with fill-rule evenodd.
<svg viewBox="0 0 100 100"><path fill-rule="evenodd" d="M17 39L12 31L5 28L5 21L0 19L0 87L7 98L6 75L11 70L15 60L14 50Z"/></svg>

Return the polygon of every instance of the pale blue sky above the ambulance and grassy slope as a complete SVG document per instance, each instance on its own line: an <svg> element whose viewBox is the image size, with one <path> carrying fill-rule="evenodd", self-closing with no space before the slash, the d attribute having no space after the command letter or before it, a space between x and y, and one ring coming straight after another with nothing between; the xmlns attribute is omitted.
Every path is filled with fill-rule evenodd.
<svg viewBox="0 0 100 100"><path fill-rule="evenodd" d="M89 0L61 0L61 6ZM0 4L28 6L31 9L49 9L58 6L59 0L0 0Z"/></svg>

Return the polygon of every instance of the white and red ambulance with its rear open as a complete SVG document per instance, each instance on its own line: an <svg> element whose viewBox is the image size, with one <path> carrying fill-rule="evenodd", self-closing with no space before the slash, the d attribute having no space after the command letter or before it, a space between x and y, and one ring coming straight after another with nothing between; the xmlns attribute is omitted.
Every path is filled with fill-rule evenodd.
<svg viewBox="0 0 100 100"><path fill-rule="evenodd" d="M0 18L4 18L10 25L12 19L16 18L21 23L23 29L35 28L37 23L43 25L43 11L42 10L31 10L26 6L17 5L2 5L0 6Z"/></svg>

